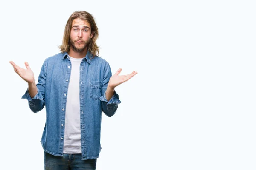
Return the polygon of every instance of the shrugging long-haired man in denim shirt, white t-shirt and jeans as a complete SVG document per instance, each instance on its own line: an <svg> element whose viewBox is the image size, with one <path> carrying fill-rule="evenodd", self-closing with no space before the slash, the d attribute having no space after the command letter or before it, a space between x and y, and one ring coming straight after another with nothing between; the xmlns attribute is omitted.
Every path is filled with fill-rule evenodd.
<svg viewBox="0 0 256 170"><path fill-rule="evenodd" d="M102 111L113 116L121 103L114 88L136 71L112 76L109 63L98 57L98 28L86 11L74 12L67 21L61 53L45 59L38 83L26 69L10 61L15 72L26 82L22 96L37 113L46 107L46 124L41 144L46 170L95 170L101 151Z"/></svg>

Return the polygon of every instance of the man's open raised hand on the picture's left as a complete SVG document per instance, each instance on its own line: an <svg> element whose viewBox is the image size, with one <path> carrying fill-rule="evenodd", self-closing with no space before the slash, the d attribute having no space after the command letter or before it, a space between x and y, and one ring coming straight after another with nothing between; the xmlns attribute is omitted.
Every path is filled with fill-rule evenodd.
<svg viewBox="0 0 256 170"><path fill-rule="evenodd" d="M26 66L27 69L19 67L13 61L10 61L10 63L12 64L15 73L19 74L19 76L23 80L25 80L29 84L32 84L35 81L34 73L31 70L31 68L29 67L29 63L28 62L25 62L25 66Z"/></svg>

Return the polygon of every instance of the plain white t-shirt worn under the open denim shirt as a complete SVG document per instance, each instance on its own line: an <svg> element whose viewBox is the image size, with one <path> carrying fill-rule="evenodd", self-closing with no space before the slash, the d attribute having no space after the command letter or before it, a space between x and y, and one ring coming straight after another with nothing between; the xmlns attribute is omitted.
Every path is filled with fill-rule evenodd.
<svg viewBox="0 0 256 170"><path fill-rule="evenodd" d="M67 90L63 153L81 153L79 81L82 59L70 57L71 74Z"/></svg>

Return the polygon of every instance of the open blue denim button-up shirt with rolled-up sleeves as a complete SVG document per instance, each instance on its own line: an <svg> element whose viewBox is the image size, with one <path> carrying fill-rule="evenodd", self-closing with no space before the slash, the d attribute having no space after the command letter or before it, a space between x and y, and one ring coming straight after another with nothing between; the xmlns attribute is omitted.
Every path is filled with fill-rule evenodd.
<svg viewBox="0 0 256 170"><path fill-rule="evenodd" d="M116 113L119 96L108 101L106 89L112 76L109 63L92 54L82 59L80 64L79 99L82 160L96 159L101 151L100 133L102 111L108 117ZM28 89L22 96L29 108L37 113L46 108L46 123L41 138L45 152L63 156L65 111L67 91L71 73L71 62L66 53L59 53L45 59L38 77L37 94L31 98Z"/></svg>

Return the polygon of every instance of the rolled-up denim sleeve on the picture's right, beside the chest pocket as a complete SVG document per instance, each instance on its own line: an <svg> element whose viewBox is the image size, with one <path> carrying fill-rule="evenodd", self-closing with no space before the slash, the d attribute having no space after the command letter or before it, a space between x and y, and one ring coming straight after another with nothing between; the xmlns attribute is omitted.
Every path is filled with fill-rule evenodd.
<svg viewBox="0 0 256 170"><path fill-rule="evenodd" d="M119 99L119 95L116 93L115 90L111 99L109 101L106 99L106 91L107 91L108 82L111 76L112 76L111 68L108 64L105 69L104 78L103 78L103 85L102 85L102 91L101 91L102 96L99 98L102 101L102 111L108 117L111 117L116 113L118 104L121 103Z"/></svg>

